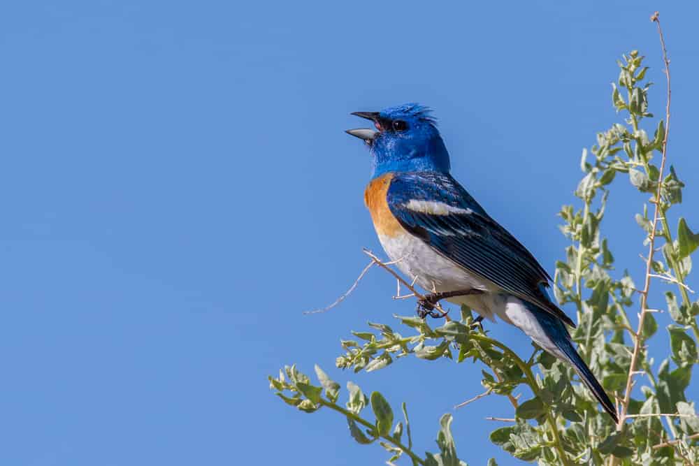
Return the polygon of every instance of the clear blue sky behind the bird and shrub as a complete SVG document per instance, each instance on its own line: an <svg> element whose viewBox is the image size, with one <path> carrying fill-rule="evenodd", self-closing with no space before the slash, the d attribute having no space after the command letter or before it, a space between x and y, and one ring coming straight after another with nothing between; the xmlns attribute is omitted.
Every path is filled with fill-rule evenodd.
<svg viewBox="0 0 699 466"><path fill-rule="evenodd" d="M408 402L417 449L434 451L439 416L482 391L480 367L336 370L349 330L414 310L377 271L333 312L301 314L379 249L349 112L435 108L454 175L552 270L582 147L616 119L619 54L649 56L662 112L656 8L670 157L699 228L691 2L3 3L0 463L381 464L336 414L268 391L284 363ZM605 228L640 281L644 197L621 184ZM528 354L518 330L489 328ZM461 457L512 464L483 420L510 413L495 397L455 412Z"/></svg>

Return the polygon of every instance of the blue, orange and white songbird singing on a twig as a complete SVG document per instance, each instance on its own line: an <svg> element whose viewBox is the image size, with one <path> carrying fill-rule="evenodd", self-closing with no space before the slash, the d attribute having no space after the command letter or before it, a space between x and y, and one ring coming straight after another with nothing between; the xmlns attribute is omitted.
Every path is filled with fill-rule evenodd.
<svg viewBox="0 0 699 466"><path fill-rule="evenodd" d="M432 291L421 317L446 299L522 330L569 363L618 423L614 403L578 354L566 326L575 323L550 298L552 282L531 252L487 214L450 174L449 152L430 108L406 103L353 112L373 128L349 129L366 143L371 177L364 191L379 241L403 274Z"/></svg>

